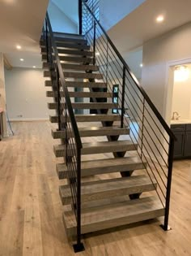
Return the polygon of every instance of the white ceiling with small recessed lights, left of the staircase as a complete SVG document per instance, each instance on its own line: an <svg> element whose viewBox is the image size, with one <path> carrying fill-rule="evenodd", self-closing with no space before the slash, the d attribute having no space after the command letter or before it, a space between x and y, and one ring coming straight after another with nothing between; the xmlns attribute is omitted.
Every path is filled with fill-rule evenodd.
<svg viewBox="0 0 191 256"><path fill-rule="evenodd" d="M49 0L0 0L0 52L13 67L40 67L40 33ZM22 46L17 50L16 46ZM19 59L24 59L20 62Z"/></svg>

